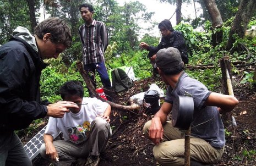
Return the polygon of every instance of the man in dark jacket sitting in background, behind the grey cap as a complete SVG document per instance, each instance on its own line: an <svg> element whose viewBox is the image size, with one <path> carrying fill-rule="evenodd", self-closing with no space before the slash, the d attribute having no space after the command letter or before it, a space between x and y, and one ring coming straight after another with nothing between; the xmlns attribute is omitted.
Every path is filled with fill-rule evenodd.
<svg viewBox="0 0 256 166"><path fill-rule="evenodd" d="M157 73L157 68L155 65L156 53L162 48L174 47L177 48L179 53L181 53L181 58L184 64L188 63L188 51L185 44L184 37L181 32L175 31L172 28L170 20L163 20L159 23L158 28L162 34L161 42L156 47L149 46L145 42L140 43L140 47L149 51L148 57L150 58L150 63L153 65L153 73Z"/></svg>

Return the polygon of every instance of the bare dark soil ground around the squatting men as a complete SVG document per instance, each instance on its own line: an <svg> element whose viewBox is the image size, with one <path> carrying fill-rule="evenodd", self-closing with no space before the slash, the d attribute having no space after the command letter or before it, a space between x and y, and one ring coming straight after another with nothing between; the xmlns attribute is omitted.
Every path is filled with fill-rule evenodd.
<svg viewBox="0 0 256 166"><path fill-rule="evenodd" d="M129 91L119 93L115 102L127 104L128 98L139 92L146 91L152 83L159 83L159 78L149 78L135 82ZM236 79L233 79L236 81ZM236 82L235 82L236 83ZM236 84L233 84L236 85ZM165 86L160 86L162 89ZM237 128L226 137L225 153L217 165L256 165L256 103L255 88L249 85L234 87L239 105L233 110ZM143 108L140 111L144 111ZM111 126L113 135L108 142L106 151L101 155L100 166L103 165L159 165L152 155L154 145L143 135L143 125L151 119L151 115L134 114L112 110ZM45 124L41 125L42 126ZM34 134L23 137L27 142ZM33 160L34 165L49 165L40 156Z"/></svg>

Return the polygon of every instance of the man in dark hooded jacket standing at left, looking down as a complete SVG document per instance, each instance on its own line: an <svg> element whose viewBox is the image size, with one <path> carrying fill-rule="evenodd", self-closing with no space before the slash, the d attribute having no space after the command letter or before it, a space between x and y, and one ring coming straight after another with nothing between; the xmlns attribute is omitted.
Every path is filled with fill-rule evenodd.
<svg viewBox="0 0 256 166"><path fill-rule="evenodd" d="M0 47L0 165L32 165L14 130L27 128L32 120L61 118L74 102L41 103L39 81L42 59L57 58L71 46L71 33L61 19L49 18L35 27L34 36L17 27L9 42Z"/></svg>

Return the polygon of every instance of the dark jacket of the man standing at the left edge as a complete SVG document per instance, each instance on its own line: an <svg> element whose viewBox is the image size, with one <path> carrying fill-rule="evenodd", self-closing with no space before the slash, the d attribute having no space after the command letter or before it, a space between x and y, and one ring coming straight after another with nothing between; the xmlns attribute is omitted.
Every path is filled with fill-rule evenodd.
<svg viewBox="0 0 256 166"><path fill-rule="evenodd" d="M0 47L0 132L27 128L46 116L39 91L45 67L39 53L19 37Z"/></svg>

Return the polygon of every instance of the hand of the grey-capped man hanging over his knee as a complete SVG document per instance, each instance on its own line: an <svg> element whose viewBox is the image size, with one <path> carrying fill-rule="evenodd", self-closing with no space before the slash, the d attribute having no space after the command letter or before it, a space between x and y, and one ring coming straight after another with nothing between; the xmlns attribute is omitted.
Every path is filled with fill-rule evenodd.
<svg viewBox="0 0 256 166"><path fill-rule="evenodd" d="M160 141L163 140L164 128L159 117L152 118L151 126L149 128L149 139L156 145L159 145Z"/></svg>

